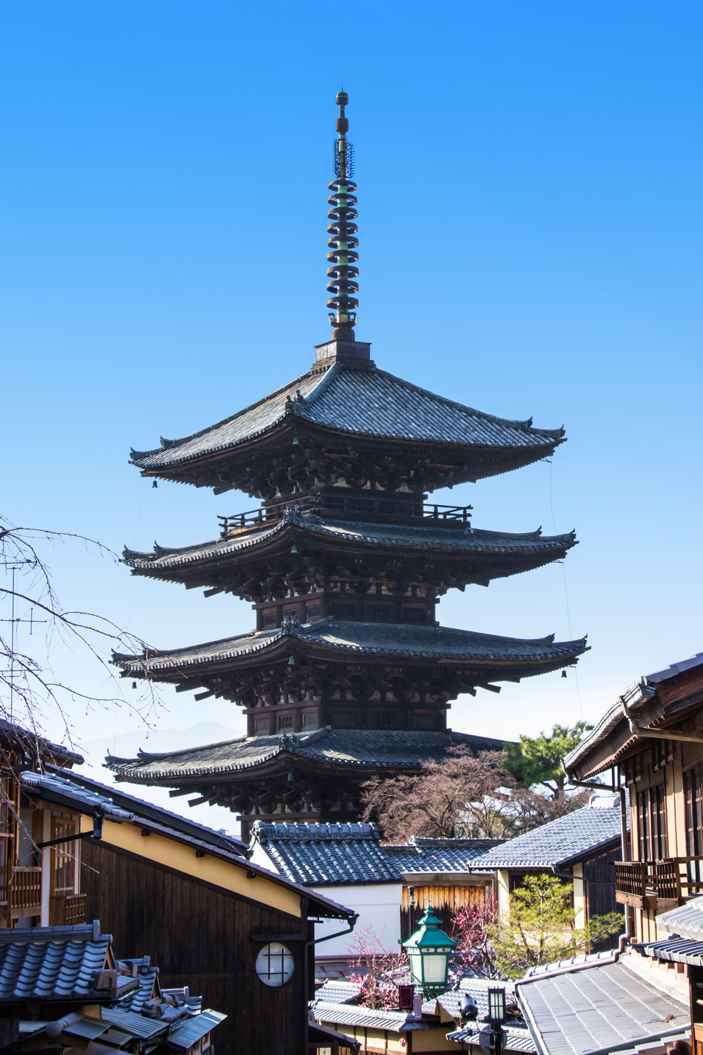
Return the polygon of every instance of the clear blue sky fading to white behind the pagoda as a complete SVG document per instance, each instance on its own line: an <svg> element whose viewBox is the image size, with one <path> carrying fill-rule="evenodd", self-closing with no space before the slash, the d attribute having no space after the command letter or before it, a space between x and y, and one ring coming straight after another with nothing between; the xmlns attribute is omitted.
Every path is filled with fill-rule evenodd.
<svg viewBox="0 0 703 1055"><path fill-rule="evenodd" d="M393 373L569 437L552 465L437 493L476 525L581 540L438 615L592 649L578 679L462 698L450 724L593 718L703 648L700 4L26 0L0 23L6 516L149 549L254 504L153 490L128 454L246 406L327 339L344 80L359 340ZM64 603L155 646L251 627L246 602L75 546L50 561ZM54 661L100 688L90 664ZM230 705L165 703L164 729L241 728ZM79 740L134 727L74 716Z"/></svg>

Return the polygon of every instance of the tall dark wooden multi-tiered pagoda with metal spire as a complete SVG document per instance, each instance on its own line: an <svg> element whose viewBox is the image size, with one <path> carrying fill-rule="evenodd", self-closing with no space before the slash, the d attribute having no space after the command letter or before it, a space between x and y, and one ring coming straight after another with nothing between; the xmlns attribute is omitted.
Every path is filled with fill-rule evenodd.
<svg viewBox="0 0 703 1055"><path fill-rule="evenodd" d="M551 455L563 429L505 421L393 377L355 338L356 185L346 93L336 99L330 184L331 340L301 377L224 421L156 450L143 476L238 488L262 501L220 518L220 537L124 552L135 575L229 592L256 610L251 633L116 655L145 677L243 708L247 736L169 754L109 756L118 780L195 792L254 820L354 820L359 784L416 771L448 748L500 742L447 729L450 701L573 664L585 639L499 637L441 627L450 588L563 558L573 534L474 529L470 506L429 493Z"/></svg>

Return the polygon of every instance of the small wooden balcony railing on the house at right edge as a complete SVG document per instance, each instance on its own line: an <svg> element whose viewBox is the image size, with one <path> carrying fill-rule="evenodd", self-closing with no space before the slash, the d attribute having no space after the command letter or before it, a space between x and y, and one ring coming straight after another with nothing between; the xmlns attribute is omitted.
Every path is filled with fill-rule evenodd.
<svg viewBox="0 0 703 1055"><path fill-rule="evenodd" d="M703 894L703 857L616 861L616 901L666 912Z"/></svg>

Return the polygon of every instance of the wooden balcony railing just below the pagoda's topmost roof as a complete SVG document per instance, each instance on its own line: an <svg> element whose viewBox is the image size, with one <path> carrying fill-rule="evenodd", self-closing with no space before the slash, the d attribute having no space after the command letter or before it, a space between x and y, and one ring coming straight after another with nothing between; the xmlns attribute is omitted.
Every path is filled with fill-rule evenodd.
<svg viewBox="0 0 703 1055"><path fill-rule="evenodd" d="M235 513L229 517L218 517L222 537L231 532L253 528L273 528L286 516L286 512L298 510L300 513L319 513L331 516L393 520L398 522L427 523L428 520L447 528L461 528L471 519L471 505L438 505L433 502L416 502L393 498L359 497L358 495L302 495L300 498L271 502L257 510Z"/></svg>

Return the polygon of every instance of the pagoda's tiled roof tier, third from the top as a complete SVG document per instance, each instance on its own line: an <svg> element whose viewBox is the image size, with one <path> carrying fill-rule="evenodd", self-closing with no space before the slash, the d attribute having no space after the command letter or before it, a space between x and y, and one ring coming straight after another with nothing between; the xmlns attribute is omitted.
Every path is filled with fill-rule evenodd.
<svg viewBox="0 0 703 1055"><path fill-rule="evenodd" d="M403 624L317 622L297 625L286 630L257 630L250 634L226 637L182 649L157 652L150 658L115 654L114 663L130 677L147 671L175 671L212 664L222 659L265 653L295 641L298 646L326 652L378 656L406 656L416 659L454 659L490 666L491 664L556 665L572 663L587 651L586 638L554 641L554 635L531 640L500 637L473 630L451 627L414 627ZM536 673L536 671L535 671ZM491 677L496 676L491 674ZM523 675L529 676L529 675Z"/></svg>

